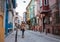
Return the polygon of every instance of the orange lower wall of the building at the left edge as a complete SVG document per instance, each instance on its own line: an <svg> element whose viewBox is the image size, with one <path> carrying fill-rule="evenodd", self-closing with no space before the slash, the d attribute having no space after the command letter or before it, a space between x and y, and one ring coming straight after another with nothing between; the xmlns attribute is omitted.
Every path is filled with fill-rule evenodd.
<svg viewBox="0 0 60 42"><path fill-rule="evenodd" d="M0 11L0 42L4 42L3 12Z"/></svg>

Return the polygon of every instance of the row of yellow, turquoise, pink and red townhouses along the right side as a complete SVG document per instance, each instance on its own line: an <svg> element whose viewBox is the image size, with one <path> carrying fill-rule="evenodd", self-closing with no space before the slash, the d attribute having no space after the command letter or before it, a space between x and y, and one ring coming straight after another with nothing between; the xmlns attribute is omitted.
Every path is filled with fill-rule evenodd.
<svg viewBox="0 0 60 42"><path fill-rule="evenodd" d="M26 21L40 32L60 35L60 0L31 0L26 7Z"/></svg>

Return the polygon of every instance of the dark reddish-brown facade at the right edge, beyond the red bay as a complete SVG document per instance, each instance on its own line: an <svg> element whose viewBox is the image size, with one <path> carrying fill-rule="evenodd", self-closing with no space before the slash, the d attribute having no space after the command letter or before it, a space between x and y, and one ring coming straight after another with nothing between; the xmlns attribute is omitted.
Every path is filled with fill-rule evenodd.
<svg viewBox="0 0 60 42"><path fill-rule="evenodd" d="M59 0L49 0L49 5L51 9L51 25L52 25L52 33L60 35L60 13L59 13Z"/></svg>

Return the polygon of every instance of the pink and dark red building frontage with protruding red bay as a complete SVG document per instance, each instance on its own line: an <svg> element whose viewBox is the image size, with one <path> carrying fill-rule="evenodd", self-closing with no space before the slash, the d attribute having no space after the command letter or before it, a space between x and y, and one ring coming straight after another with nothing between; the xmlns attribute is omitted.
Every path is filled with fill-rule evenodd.
<svg viewBox="0 0 60 42"><path fill-rule="evenodd" d="M60 34L60 1L59 0L36 0L37 1L37 16L40 31L45 31L51 34ZM40 25L39 25L40 26Z"/></svg>

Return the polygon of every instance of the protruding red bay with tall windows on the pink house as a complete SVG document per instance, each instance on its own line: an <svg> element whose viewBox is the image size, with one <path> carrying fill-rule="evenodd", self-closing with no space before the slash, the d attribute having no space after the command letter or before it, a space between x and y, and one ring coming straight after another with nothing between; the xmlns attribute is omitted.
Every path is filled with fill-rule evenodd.
<svg viewBox="0 0 60 42"><path fill-rule="evenodd" d="M40 1L40 13L45 14L49 12L49 0L41 0Z"/></svg>

